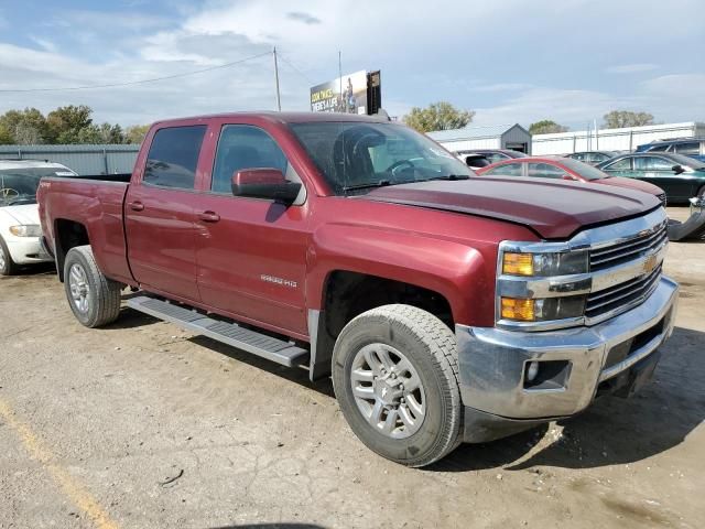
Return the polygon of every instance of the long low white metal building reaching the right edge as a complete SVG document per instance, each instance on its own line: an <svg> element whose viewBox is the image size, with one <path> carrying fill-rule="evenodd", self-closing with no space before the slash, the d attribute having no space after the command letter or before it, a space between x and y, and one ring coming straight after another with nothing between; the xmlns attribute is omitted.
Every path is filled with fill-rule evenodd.
<svg viewBox="0 0 705 529"><path fill-rule="evenodd" d="M531 152L542 154L570 154L581 151L633 151L637 147L655 140L705 136L705 123L647 125L623 129L578 130L555 134L534 134Z"/></svg>

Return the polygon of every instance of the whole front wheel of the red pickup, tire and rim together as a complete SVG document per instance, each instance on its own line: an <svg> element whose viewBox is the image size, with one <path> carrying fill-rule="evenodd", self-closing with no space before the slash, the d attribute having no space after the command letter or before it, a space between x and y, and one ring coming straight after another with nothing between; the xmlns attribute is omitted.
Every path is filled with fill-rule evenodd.
<svg viewBox="0 0 705 529"><path fill-rule="evenodd" d="M333 384L355 434L388 460L425 466L458 445L456 341L433 314L394 304L354 319L336 341Z"/></svg>

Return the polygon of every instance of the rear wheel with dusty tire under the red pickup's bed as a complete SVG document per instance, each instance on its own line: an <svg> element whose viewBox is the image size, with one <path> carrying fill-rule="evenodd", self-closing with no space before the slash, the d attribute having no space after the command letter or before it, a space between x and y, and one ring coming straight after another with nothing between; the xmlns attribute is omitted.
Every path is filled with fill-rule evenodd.
<svg viewBox="0 0 705 529"><path fill-rule="evenodd" d="M76 287L72 279L74 270L83 270L85 281L80 282L86 292L86 306L82 310L79 302L72 293L72 285ZM64 261L64 290L68 305L76 320L86 327L100 327L115 322L120 314L120 292L122 284L104 276L96 264L90 246L77 246L68 250Z"/></svg>

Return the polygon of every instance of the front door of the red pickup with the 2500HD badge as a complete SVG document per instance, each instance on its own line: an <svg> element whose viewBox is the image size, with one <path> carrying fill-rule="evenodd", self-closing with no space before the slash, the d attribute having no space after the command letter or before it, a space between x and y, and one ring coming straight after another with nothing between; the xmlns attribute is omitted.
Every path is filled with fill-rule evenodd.
<svg viewBox="0 0 705 529"><path fill-rule="evenodd" d="M214 123L210 179L197 195L197 283L218 312L275 330L307 334L305 188L294 205L232 195L232 175L279 169L301 182L276 141L254 125ZM216 144L217 140L217 144Z"/></svg>

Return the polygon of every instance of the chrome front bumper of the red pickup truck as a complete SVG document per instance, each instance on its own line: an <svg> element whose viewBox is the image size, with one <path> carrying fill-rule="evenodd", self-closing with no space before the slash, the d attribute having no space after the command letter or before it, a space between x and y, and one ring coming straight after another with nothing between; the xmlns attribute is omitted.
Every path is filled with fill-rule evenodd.
<svg viewBox="0 0 705 529"><path fill-rule="evenodd" d="M456 325L463 403L491 422L528 427L582 411L600 384L652 355L671 335L677 292L677 283L662 277L642 304L589 327L521 332ZM553 384L530 387L531 361L565 369Z"/></svg>

